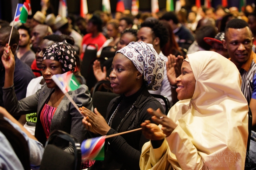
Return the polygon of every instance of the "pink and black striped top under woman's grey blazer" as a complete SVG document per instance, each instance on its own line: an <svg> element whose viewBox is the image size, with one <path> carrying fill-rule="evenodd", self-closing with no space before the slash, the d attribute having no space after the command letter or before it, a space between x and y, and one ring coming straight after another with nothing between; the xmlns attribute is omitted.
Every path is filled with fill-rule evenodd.
<svg viewBox="0 0 256 170"><path fill-rule="evenodd" d="M57 108L54 108L53 106L50 106L46 103L41 111L40 120L43 126L43 130L45 131L46 138L48 139L50 135L50 125L52 123L52 118Z"/></svg>

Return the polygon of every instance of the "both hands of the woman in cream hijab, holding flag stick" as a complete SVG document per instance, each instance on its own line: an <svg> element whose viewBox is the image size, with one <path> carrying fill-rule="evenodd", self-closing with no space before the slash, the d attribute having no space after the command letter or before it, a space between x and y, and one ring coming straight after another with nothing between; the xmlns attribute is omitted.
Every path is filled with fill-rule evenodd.
<svg viewBox="0 0 256 170"><path fill-rule="evenodd" d="M152 120L155 123L161 124L162 128L156 124L150 123L150 120L146 120L141 124L143 135L150 140L162 140L166 136L168 137L177 125L169 119L165 114L161 113L160 109L156 111L149 108L148 113L152 115Z"/></svg>

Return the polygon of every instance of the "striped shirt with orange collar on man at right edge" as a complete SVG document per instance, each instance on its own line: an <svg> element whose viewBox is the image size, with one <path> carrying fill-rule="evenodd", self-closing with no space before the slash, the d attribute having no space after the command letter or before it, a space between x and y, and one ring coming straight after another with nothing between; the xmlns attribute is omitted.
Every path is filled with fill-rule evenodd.
<svg viewBox="0 0 256 170"><path fill-rule="evenodd" d="M241 79L242 79L242 85L241 90L246 98L248 104L250 104L251 98L255 98L255 96L252 96L252 93L256 91L256 82L254 79L254 75L256 73L256 54L252 51L251 56L247 60L246 63L244 63L240 69Z"/></svg>

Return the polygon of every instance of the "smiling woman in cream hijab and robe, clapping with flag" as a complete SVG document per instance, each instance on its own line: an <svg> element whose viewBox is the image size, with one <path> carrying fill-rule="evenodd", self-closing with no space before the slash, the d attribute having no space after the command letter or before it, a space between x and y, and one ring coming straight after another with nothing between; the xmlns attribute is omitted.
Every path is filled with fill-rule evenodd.
<svg viewBox="0 0 256 170"><path fill-rule="evenodd" d="M177 77L177 102L168 115L148 112L141 170L244 169L248 138L248 104L236 66L220 54L187 55ZM161 130L163 131L161 131ZM166 137L165 137L166 135Z"/></svg>

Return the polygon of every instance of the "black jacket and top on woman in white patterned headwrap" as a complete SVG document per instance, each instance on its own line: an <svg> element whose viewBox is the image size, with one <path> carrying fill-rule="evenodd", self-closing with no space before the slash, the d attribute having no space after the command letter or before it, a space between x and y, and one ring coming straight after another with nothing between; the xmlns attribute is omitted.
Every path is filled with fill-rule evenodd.
<svg viewBox="0 0 256 170"><path fill-rule="evenodd" d="M122 103L113 118L112 128L110 128L107 135L140 128L140 124L145 120L151 120L151 116L147 112L148 108L154 110L160 108L164 112L161 103L151 96L147 88L143 86L131 96L121 95L114 98L107 109L107 122L121 101ZM134 102L134 108L127 114ZM124 117L125 115L126 117ZM148 141L141 131L106 139L104 161L96 161L89 170L139 170L141 149L144 143Z"/></svg>

